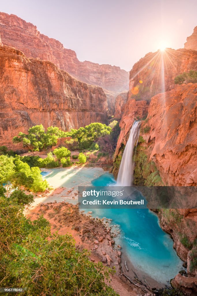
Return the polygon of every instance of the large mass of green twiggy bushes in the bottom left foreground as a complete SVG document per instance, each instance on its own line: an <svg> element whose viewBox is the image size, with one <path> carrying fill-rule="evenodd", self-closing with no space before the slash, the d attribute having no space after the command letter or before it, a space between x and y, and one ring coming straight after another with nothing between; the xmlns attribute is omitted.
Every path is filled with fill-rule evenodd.
<svg viewBox="0 0 197 296"><path fill-rule="evenodd" d="M105 283L114 271L76 250L71 236L51 236L43 217L32 222L21 205L0 197L0 218L1 287L26 287L28 296L117 295Z"/></svg>

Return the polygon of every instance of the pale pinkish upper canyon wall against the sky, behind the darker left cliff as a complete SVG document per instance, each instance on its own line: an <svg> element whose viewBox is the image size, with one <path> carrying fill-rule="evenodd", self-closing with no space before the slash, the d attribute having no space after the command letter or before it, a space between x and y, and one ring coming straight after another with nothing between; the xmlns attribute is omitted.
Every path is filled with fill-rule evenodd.
<svg viewBox="0 0 197 296"><path fill-rule="evenodd" d="M128 90L128 72L116 66L80 62L73 50L40 34L36 26L16 15L0 13L0 36L4 45L21 50L27 57L48 60L83 82L110 91Z"/></svg>

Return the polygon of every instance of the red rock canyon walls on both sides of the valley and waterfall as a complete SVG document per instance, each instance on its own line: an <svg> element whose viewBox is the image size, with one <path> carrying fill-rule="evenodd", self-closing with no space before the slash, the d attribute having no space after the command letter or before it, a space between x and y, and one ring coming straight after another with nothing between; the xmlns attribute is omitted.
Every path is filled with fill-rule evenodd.
<svg viewBox="0 0 197 296"><path fill-rule="evenodd" d="M174 82L190 70L197 71L197 27L183 49L148 53L128 74L80 62L35 25L0 12L0 145L16 149L12 138L37 124L69 131L114 118L120 121L111 168L117 177L131 127L141 120L134 184L197 186L197 83ZM196 293L197 210L154 211L187 262L188 277L178 274L173 286Z"/></svg>

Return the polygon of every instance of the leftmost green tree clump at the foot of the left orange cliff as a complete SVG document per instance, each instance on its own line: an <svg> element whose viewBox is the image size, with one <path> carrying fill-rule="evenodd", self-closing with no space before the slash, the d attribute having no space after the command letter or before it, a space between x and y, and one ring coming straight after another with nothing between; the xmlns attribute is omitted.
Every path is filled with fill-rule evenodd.
<svg viewBox="0 0 197 296"><path fill-rule="evenodd" d="M57 139L65 135L66 133L56 126L48 127L45 132L43 125L40 124L29 128L27 134L19 132L12 141L13 143L22 142L25 147L34 152L56 145Z"/></svg>

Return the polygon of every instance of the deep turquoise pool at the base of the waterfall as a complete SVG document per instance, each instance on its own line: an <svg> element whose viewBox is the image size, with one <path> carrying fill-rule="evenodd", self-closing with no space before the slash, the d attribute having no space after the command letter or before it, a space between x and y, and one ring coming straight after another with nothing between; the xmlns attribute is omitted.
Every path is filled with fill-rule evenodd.
<svg viewBox="0 0 197 296"><path fill-rule="evenodd" d="M112 174L92 181L93 186L114 185ZM182 267L173 249L173 241L159 226L157 215L148 209L93 209L93 216L113 219L120 225L119 243L136 268L158 282L167 284Z"/></svg>

